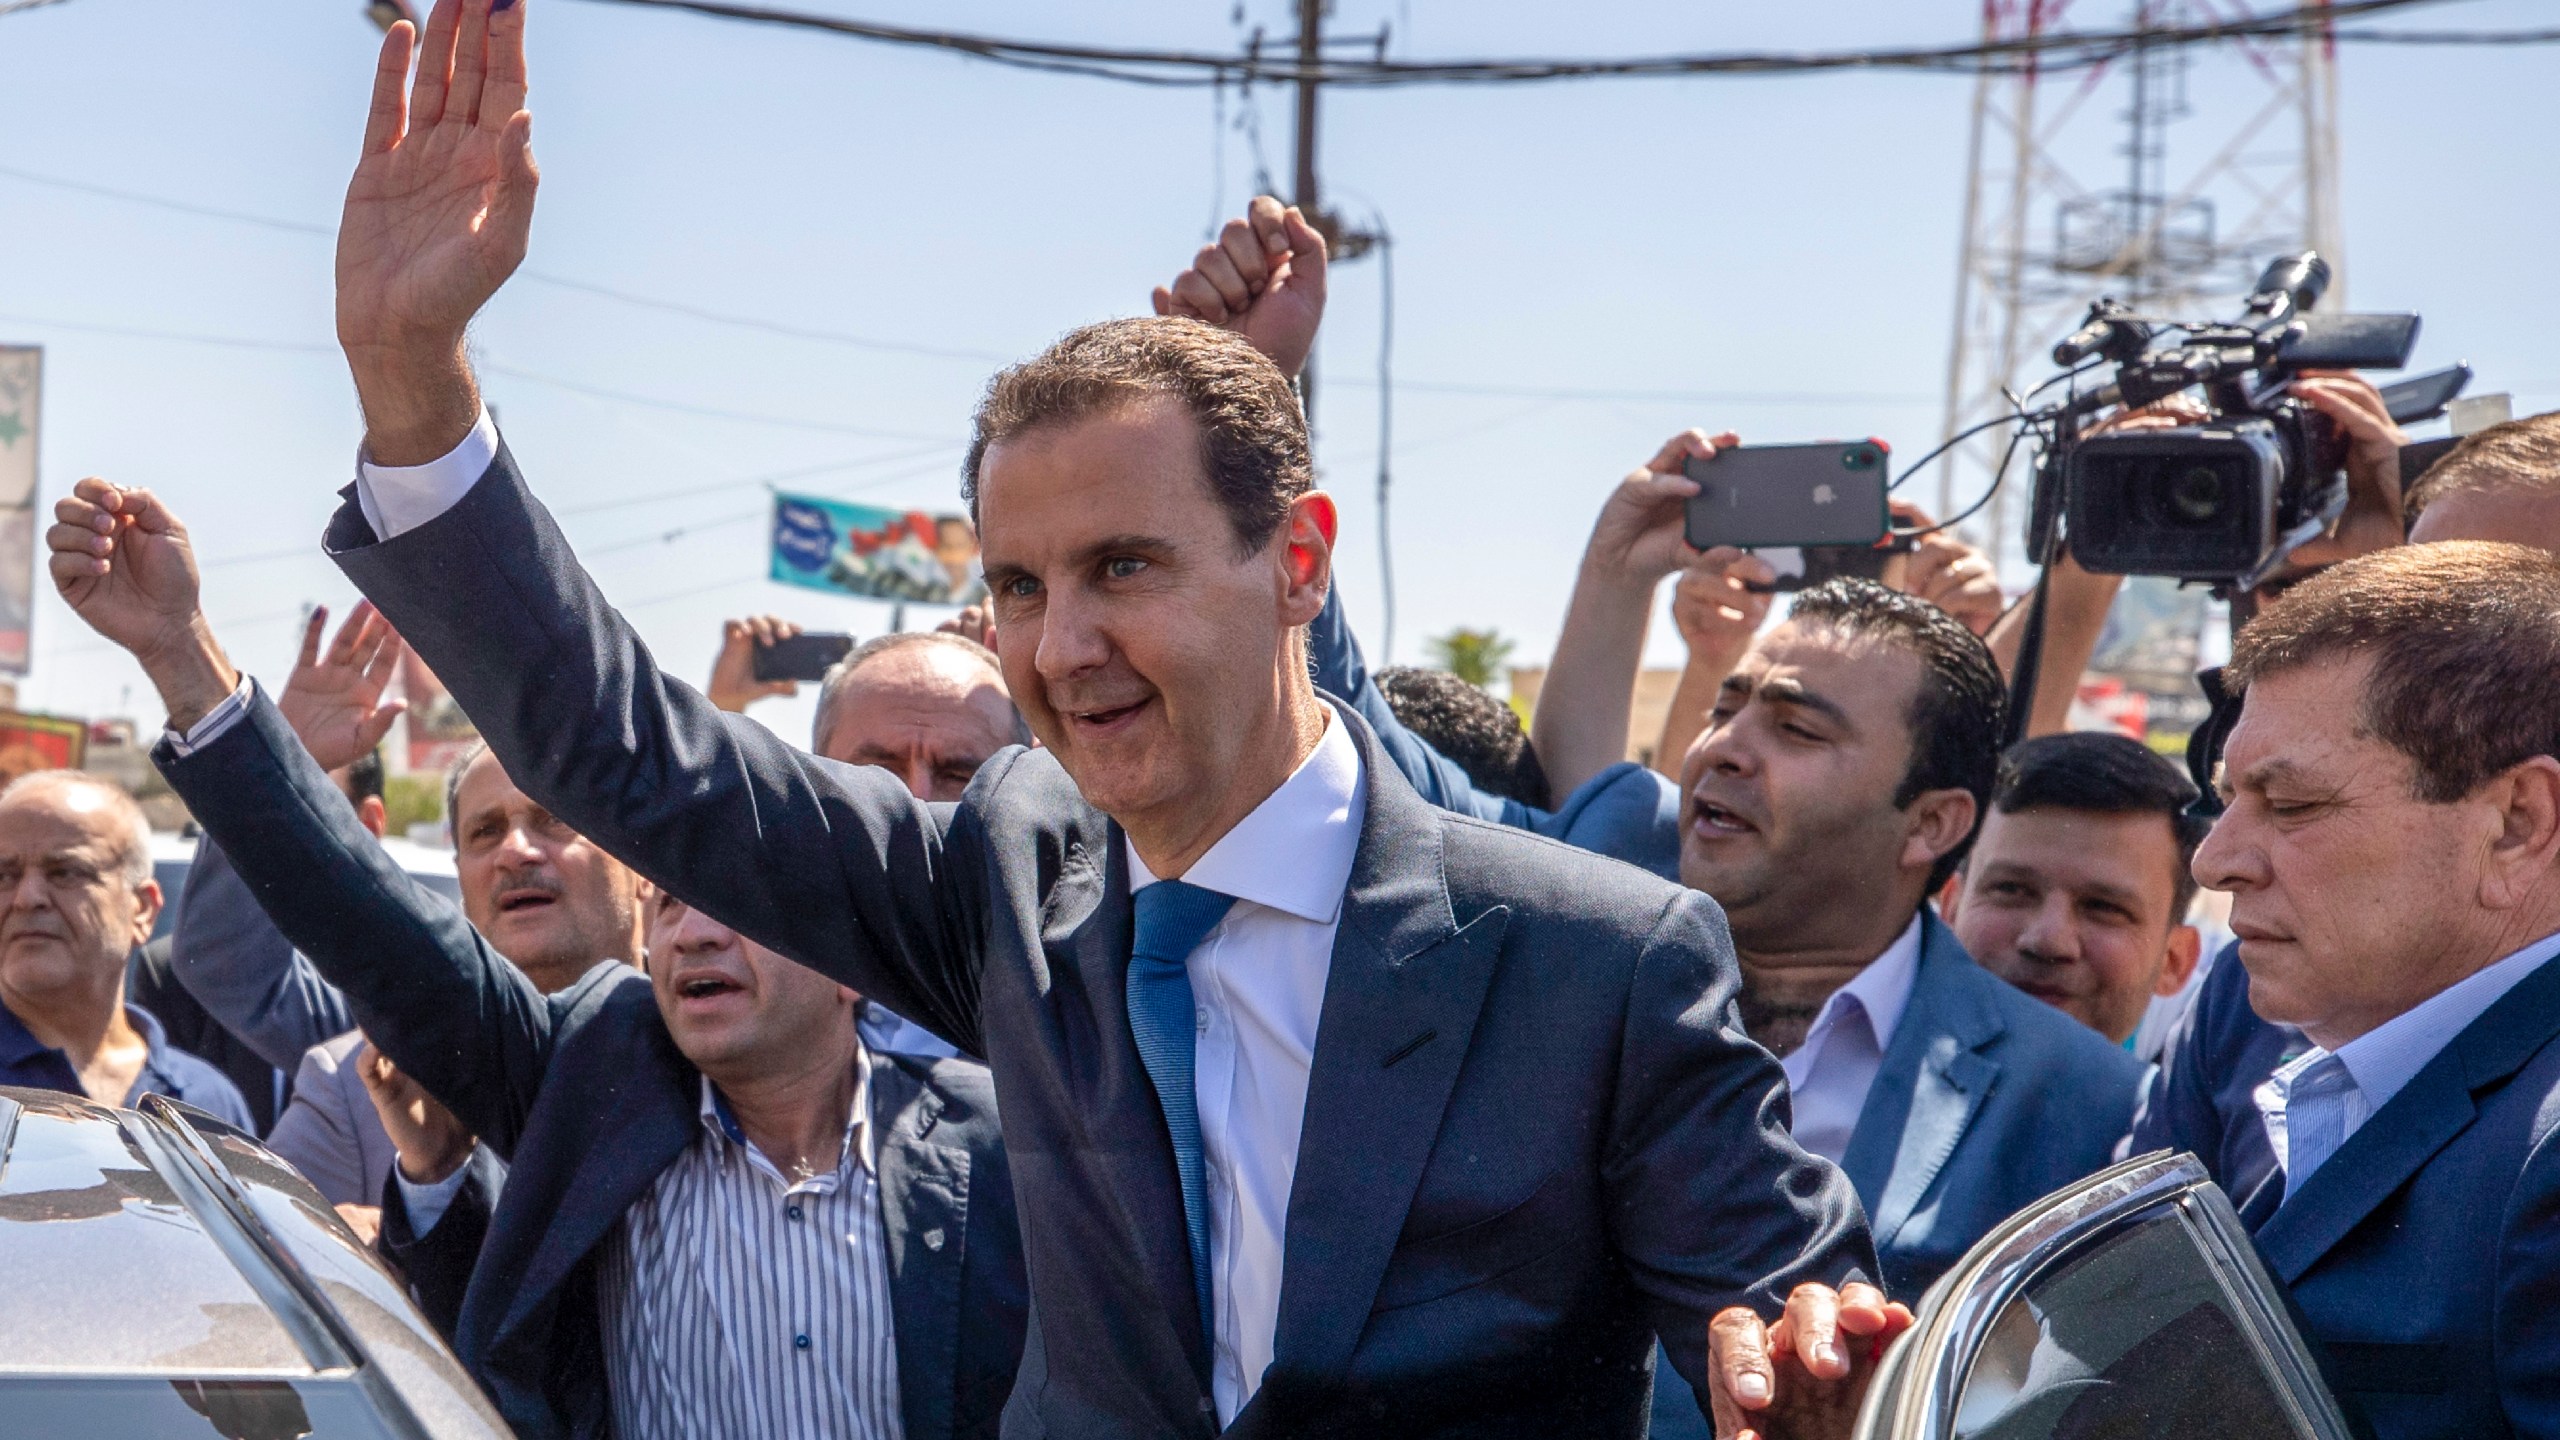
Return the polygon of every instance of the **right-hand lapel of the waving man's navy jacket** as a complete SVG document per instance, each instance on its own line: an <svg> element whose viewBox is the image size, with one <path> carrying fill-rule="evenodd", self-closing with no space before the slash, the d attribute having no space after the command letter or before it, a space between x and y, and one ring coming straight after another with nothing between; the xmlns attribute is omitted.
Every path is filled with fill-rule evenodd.
<svg viewBox="0 0 2560 1440"><path fill-rule="evenodd" d="M1267 1389L1339 1376L1377 1299L1503 953L1508 907L1452 912L1439 812L1344 715L1367 815L1334 935L1290 1186Z"/></svg>

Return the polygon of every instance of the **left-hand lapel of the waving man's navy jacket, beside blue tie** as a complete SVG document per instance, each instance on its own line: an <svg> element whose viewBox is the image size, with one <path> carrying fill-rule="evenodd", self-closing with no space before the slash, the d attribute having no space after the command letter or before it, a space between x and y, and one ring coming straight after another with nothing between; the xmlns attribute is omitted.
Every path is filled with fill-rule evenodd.
<svg viewBox="0 0 2560 1440"><path fill-rule="evenodd" d="M1083 1010L1052 1010L1062 1027L1065 1071L1075 1084L1098 1184L1119 1197L1139 1263L1155 1289L1160 1317L1172 1327L1201 1386L1208 1386L1208 1348L1193 1320L1190 1243L1183 1230L1183 1181L1172 1171L1172 1135L1155 1099L1147 1066L1129 1035L1129 856L1114 822L1101 856L1073 846L1042 902L1039 948L1057 976L1075 976ZM1055 992L1052 992L1055 997Z"/></svg>

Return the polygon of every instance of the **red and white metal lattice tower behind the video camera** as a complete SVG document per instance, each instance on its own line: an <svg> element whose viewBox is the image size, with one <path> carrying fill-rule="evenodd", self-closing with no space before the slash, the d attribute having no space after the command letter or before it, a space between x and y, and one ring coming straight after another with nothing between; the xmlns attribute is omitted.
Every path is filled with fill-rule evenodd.
<svg viewBox="0 0 2560 1440"><path fill-rule="evenodd" d="M1981 38L2053 33L2071 5L1984 0ZM2127 28L2212 23L2237 10L2235 0L2135 0ZM2102 295L2145 313L2212 318L2268 259L2317 249L2340 277L2327 307L2340 307L2335 61L2322 23L2299 41L2145 46L2071 74L1984 72L1974 90L1943 436L2007 413L2004 389L2045 379L2053 341ZM1951 451L1938 515L1979 497L2004 448L2007 433L1992 428ZM2004 574L2022 559L2025 492L2020 459L1964 525Z"/></svg>

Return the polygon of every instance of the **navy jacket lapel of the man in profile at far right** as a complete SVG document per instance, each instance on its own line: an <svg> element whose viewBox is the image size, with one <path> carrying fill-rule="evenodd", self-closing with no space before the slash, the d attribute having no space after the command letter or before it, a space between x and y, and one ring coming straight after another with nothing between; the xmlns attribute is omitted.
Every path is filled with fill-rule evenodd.
<svg viewBox="0 0 2560 1440"><path fill-rule="evenodd" d="M2473 1097L2560 1033L2560 963L2542 963L2427 1061L2301 1189L2258 1227L2258 1253L2286 1284L2304 1276L2409 1176L2478 1117ZM2284 1186L2284 1176L2268 1179Z"/></svg>

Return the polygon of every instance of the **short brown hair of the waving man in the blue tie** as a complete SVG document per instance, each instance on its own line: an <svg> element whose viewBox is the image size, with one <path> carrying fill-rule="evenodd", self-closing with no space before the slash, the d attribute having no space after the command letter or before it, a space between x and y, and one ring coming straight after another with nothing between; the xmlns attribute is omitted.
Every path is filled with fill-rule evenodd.
<svg viewBox="0 0 2560 1440"><path fill-rule="evenodd" d="M1170 315L1103 320L996 372L978 402L960 497L978 518L988 446L1042 425L1178 400L1201 428L1201 471L1244 553L1262 548L1290 502L1313 489L1306 413L1280 366L1244 336Z"/></svg>

